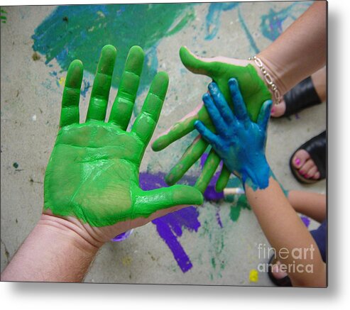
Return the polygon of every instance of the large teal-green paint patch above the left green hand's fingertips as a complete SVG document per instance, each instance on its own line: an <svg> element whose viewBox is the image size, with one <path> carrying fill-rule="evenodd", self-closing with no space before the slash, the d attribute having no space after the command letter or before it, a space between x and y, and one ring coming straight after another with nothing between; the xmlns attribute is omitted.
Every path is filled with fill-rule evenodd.
<svg viewBox="0 0 350 310"><path fill-rule="evenodd" d="M99 52L106 44L117 49L112 86L118 87L128 50L140 45L146 51L139 92L143 92L158 69L156 47L161 38L180 31L195 18L194 4L114 4L58 6L35 29L33 50L54 58L62 70L82 60L84 70L94 74Z"/></svg>

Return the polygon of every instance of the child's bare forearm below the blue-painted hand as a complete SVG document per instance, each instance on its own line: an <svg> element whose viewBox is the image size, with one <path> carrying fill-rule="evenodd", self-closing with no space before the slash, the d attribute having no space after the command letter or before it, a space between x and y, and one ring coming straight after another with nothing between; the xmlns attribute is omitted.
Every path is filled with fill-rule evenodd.
<svg viewBox="0 0 350 310"><path fill-rule="evenodd" d="M280 262L287 266L302 265L303 270L307 265L312 265L312 273L290 270L288 275L292 284L295 286L324 286L325 265L317 244L285 198L278 182L270 177L266 189L254 191L246 187L246 196ZM301 257L299 256L300 251L302 252Z"/></svg>

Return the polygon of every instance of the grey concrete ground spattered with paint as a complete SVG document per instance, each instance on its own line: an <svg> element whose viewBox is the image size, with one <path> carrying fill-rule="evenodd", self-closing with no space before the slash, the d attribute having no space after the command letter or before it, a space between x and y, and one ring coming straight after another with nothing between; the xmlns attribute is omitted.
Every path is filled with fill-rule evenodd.
<svg viewBox="0 0 350 310"><path fill-rule="evenodd" d="M164 131L171 123L197 106L209 82L207 77L196 76L185 70L178 57L181 45L187 45L190 50L205 57L224 55L246 58L268 46L311 3L277 1L199 4L183 9L183 14L187 14L182 19L185 26L182 25L179 29L175 27L175 31L163 35L156 42L150 43L151 46L147 46L148 62L151 64L149 67L165 70L170 76L169 92L155 134ZM38 35L32 38L32 35L38 34L38 27L45 18L47 21L50 18L57 20L56 6L16 6L1 9L4 10L1 11L1 16L5 16L1 19L5 21L1 23L2 271L35 226L43 207L45 167L58 131L60 99L67 73L62 57L67 55L48 55L42 50L34 53L33 50L33 44L38 46L38 42L34 41L43 38ZM127 12L133 12L133 9L121 6L113 9L121 12L117 15L120 18ZM154 7L150 10L152 9ZM70 10L74 11L72 8ZM106 17L104 8L89 10L90 13L95 12L99 18ZM79 14L79 10L75 14ZM179 16L183 17L181 14ZM80 21L83 20L84 16ZM80 21L70 19L62 22L76 23L68 24L68 27L76 30ZM100 21L98 23L101 24ZM94 21L91 24L96 26ZM109 25L108 21L104 25L114 27L114 23ZM125 26L124 23L121 25ZM94 33L94 28L91 29ZM118 30L116 27L116 35ZM49 33L51 30L48 28L40 31ZM68 35L69 29L66 31L65 35ZM126 31L137 30L124 29L124 41L128 38ZM52 36L55 33L50 35L53 42ZM87 33L87 38L80 38L79 42L72 40L70 50L82 48L84 40L89 40L89 35ZM55 44L64 44L65 38L57 40ZM45 44L44 41L39 43ZM99 44L92 44L88 48L98 55L97 46L99 50ZM46 63L49 56L53 59ZM82 111L87 110L93 72L87 72L84 81L86 94L82 96ZM114 100L115 94L114 87L110 101ZM141 92L138 106L141 106L145 94L145 91ZM288 167L292 152L323 131L325 126L326 104L302 111L297 116L270 121L267 157L285 189L325 193L325 182L302 186L292 177ZM192 133L160 153L153 153L148 148L141 172L151 175L168 172L194 136ZM197 177L199 171L200 167L196 165L189 175ZM268 242L253 212L245 206L244 201L238 199L217 204L206 202L197 210L190 209L188 217L182 213L164 221L168 225L166 227L170 237L162 234L160 222L137 228L127 240L104 245L85 281L272 285L266 273L259 272L258 277L250 277L251 270L256 270L259 263L267 260L259 258L258 245L262 244L267 248ZM186 222L188 218L192 219L191 223ZM180 226L180 233L172 230L171 221ZM310 227L316 225L312 221ZM169 245L169 238L180 245L180 252L178 248L176 250ZM178 259L175 260L175 257Z"/></svg>

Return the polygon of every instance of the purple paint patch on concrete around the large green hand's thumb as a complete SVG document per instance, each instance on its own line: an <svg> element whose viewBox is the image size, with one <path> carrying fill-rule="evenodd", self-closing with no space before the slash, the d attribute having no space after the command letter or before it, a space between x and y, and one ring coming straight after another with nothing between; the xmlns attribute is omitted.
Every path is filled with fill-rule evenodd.
<svg viewBox="0 0 350 310"><path fill-rule="evenodd" d="M161 172L153 175L141 172L139 175L140 187L143 190L168 187L164 182L164 176ZM192 185L195 184L196 179L195 177L183 177L182 183ZM197 209L194 206L189 206L152 221L157 228L160 238L164 240L173 253L182 272L187 272L193 265L178 238L182 236L183 228L186 228L188 231L198 231L200 227L198 216L199 212Z"/></svg>

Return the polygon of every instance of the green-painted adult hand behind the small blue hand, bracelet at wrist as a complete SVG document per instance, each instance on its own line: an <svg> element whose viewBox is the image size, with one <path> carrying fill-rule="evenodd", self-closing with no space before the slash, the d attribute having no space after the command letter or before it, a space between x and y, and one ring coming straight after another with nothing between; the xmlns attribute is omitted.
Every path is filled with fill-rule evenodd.
<svg viewBox="0 0 350 310"><path fill-rule="evenodd" d="M247 111L252 121L257 120L263 102L271 99L268 87L266 87L266 84L261 77L258 76L256 69L250 64L250 62L248 62L248 60L234 60L226 57L196 57L184 47L180 48L180 58L185 67L191 72L211 77L219 86L219 89L224 94L231 108L233 108L233 106L228 81L232 77L236 78L239 82L241 94L246 102ZM161 134L153 142L153 150L163 150L171 143L193 131L193 129L195 129L195 121L197 120L202 121L202 123L214 131L214 126L212 121L210 121L207 109L200 104L197 109L175 123L168 129L168 131ZM180 161L170 170L165 177L165 181L168 184L175 184L183 175L185 175L185 172L187 172L187 170L199 160L199 157L202 156L207 147L208 143L198 135L187 148L184 155L182 155ZM213 149L211 149L207 161L204 164L202 174L199 176L197 183L195 184L195 187L201 192L204 192L207 188L219 166L219 163L219 156ZM218 192L221 192L224 187L226 187L230 174L231 172L223 166L216 185Z"/></svg>

